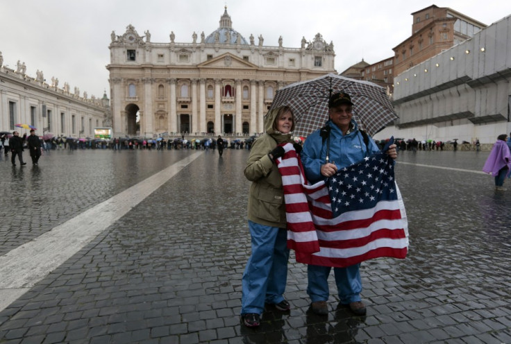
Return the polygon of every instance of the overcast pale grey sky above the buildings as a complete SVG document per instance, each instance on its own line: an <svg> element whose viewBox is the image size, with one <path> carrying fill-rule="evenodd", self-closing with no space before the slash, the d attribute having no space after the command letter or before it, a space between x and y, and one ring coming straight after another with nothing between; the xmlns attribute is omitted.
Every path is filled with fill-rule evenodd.
<svg viewBox="0 0 511 344"><path fill-rule="evenodd" d="M492 24L511 15L509 0L1 0L0 51L3 64L15 69L17 60L35 77L40 69L50 83L65 82L90 97L108 94L110 33L122 35L132 24L151 42L192 42L192 33L209 35L219 27L224 6L233 28L246 40L262 35L265 45L299 48L302 36L317 33L333 41L338 72L360 62L378 62L412 32L412 12L431 5L449 7ZM108 94L110 97L110 94Z"/></svg>

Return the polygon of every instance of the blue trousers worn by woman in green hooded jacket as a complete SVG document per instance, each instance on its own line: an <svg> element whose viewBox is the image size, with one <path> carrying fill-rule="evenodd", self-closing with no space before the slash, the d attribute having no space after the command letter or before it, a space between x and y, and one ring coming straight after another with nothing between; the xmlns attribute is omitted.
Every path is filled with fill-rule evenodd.
<svg viewBox="0 0 511 344"><path fill-rule="evenodd" d="M287 282L287 230L249 221L252 254L242 277L242 314L265 310L284 300Z"/></svg>

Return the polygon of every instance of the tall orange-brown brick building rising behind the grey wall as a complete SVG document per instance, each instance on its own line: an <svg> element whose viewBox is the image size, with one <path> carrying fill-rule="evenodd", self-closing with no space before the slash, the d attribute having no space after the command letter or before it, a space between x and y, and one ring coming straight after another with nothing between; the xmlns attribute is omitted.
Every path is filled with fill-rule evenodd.
<svg viewBox="0 0 511 344"><path fill-rule="evenodd" d="M486 25L435 5L412 13L412 35L394 49L394 75L474 37Z"/></svg>

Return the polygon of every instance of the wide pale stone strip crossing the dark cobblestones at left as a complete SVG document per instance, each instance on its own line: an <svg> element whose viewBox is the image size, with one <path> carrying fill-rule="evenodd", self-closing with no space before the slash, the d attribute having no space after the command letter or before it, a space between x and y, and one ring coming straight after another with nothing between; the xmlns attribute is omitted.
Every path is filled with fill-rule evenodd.
<svg viewBox="0 0 511 344"><path fill-rule="evenodd" d="M203 154L190 154L142 182L0 257L0 311Z"/></svg>

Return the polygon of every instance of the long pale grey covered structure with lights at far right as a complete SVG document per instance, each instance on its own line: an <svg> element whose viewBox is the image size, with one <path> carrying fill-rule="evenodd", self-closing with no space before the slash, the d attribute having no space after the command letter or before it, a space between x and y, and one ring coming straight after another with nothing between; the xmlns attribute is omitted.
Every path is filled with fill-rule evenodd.
<svg viewBox="0 0 511 344"><path fill-rule="evenodd" d="M498 135L511 131L509 37L511 15L394 76L399 119L376 139L478 139L483 149L491 148Z"/></svg>

